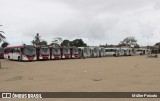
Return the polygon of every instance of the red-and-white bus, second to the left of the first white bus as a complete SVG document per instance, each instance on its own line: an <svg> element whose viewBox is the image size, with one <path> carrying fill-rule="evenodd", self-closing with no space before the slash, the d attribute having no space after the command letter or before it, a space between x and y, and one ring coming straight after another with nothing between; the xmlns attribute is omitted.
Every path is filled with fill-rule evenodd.
<svg viewBox="0 0 160 101"><path fill-rule="evenodd" d="M60 47L61 50L61 58L69 59L71 58L70 48L69 47Z"/></svg>

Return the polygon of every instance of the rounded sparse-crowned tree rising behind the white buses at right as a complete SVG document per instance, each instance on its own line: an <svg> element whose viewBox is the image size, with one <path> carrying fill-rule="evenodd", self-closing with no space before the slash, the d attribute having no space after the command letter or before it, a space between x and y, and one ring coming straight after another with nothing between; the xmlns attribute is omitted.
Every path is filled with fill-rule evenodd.
<svg viewBox="0 0 160 101"><path fill-rule="evenodd" d="M119 43L119 46L138 47L139 45L134 37L127 37Z"/></svg>

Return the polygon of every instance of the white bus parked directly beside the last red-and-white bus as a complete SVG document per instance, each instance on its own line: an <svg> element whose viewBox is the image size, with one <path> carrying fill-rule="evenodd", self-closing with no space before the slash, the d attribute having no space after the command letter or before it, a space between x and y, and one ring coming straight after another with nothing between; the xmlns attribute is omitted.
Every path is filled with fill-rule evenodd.
<svg viewBox="0 0 160 101"><path fill-rule="evenodd" d="M80 58L90 58L90 48L89 47L78 47Z"/></svg>

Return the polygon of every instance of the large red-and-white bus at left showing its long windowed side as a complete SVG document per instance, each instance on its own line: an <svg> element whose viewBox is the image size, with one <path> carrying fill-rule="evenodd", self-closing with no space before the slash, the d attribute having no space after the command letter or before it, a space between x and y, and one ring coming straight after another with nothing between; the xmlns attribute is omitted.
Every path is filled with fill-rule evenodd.
<svg viewBox="0 0 160 101"><path fill-rule="evenodd" d="M4 58L9 60L36 60L36 48L31 45L10 46L4 49Z"/></svg>

